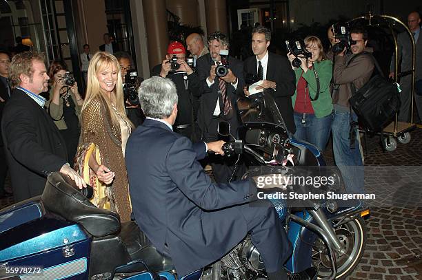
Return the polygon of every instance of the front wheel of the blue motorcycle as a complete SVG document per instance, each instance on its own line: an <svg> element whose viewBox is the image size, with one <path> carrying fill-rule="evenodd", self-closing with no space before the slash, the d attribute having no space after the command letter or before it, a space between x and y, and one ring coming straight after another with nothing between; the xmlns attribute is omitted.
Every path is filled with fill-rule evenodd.
<svg viewBox="0 0 422 280"><path fill-rule="evenodd" d="M367 229L362 217L354 219L335 229L345 254L337 255L337 275L335 279L345 279L351 274L361 261L366 246ZM328 277L332 272L332 265L328 250L321 239L316 239L312 247L312 265L318 268L318 278Z"/></svg>

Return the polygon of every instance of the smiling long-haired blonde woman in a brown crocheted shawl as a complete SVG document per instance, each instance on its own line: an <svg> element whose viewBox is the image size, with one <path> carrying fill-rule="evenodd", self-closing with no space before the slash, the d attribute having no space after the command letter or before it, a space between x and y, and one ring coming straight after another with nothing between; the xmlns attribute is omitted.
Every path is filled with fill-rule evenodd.
<svg viewBox="0 0 422 280"><path fill-rule="evenodd" d="M130 220L131 206L125 168L125 146L133 129L123 105L121 69L117 58L97 52L88 67L86 98L81 112L81 144L94 143L97 154L89 157L90 170L106 184L95 204Z"/></svg>

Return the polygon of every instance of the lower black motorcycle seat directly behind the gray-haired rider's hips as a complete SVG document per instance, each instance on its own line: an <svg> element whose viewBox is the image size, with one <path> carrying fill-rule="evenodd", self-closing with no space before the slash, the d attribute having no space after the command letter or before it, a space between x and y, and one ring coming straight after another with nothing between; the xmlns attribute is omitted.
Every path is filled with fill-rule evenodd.
<svg viewBox="0 0 422 280"><path fill-rule="evenodd" d="M132 261L143 261L152 272L174 269L168 253L161 254L157 251L157 248L152 245L150 239L146 237L135 222L123 222L119 237L125 244Z"/></svg>

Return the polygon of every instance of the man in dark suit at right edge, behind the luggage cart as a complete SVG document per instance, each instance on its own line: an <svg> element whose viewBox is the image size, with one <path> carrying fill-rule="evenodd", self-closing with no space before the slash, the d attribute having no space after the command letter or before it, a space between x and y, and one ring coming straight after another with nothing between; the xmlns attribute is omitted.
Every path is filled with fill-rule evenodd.
<svg viewBox="0 0 422 280"><path fill-rule="evenodd" d="M422 83L422 34L421 34L421 15L419 12L411 12L408 15L408 27L414 39L414 46L416 52L416 61L414 64L414 80L417 83ZM397 45L399 49L397 50L399 65L401 66L401 72L406 72L412 67L412 43L409 38L408 32L402 32L397 35ZM390 63L390 78L394 78L394 53L391 58ZM399 120L401 122L410 121L410 103L412 100L411 96L411 85L412 85L412 75L408 74L402 76L399 80L401 93L400 100L401 106L399 111ZM419 119L422 120L422 92L417 93L414 96L416 109L418 110Z"/></svg>

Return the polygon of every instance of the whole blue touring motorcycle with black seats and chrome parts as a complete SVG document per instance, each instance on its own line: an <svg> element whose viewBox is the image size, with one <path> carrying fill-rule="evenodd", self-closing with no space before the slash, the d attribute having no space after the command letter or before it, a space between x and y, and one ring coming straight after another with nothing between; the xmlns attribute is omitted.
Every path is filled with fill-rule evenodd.
<svg viewBox="0 0 422 280"><path fill-rule="evenodd" d="M226 145L228 153L244 152L245 161L261 166L281 166L289 155L297 165L325 166L312 144L290 137L270 96L239 100L238 106L243 126L237 141ZM209 267L178 277L171 257L158 252L135 222L121 223L117 213L91 204L91 196L89 186L81 191L68 177L51 173L41 196L1 210L0 279L266 279L250 237ZM365 248L365 203L294 209L272 202L293 245L288 270L314 266L323 279L352 272Z"/></svg>

